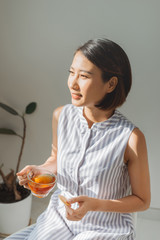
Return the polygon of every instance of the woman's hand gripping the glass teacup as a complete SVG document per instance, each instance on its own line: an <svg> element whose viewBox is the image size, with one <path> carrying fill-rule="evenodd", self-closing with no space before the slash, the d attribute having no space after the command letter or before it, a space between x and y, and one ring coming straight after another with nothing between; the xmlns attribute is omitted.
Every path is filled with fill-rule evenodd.
<svg viewBox="0 0 160 240"><path fill-rule="evenodd" d="M28 188L28 178L27 174L32 171L34 174L39 174L44 168L37 165L27 165L20 172L18 172L17 178L19 180L19 185L23 185L25 188Z"/></svg>

